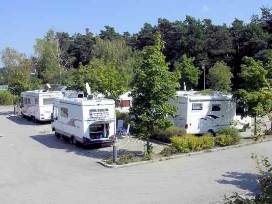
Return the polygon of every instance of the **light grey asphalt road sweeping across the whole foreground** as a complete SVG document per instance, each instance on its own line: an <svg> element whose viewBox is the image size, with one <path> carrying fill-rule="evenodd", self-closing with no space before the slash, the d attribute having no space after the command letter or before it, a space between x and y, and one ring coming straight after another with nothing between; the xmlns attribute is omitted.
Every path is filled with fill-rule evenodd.
<svg viewBox="0 0 272 204"><path fill-rule="evenodd" d="M108 169L83 148L8 115L0 107L0 203L5 204L207 204L233 192L254 192L258 172L251 152L272 161L272 142L265 142Z"/></svg>

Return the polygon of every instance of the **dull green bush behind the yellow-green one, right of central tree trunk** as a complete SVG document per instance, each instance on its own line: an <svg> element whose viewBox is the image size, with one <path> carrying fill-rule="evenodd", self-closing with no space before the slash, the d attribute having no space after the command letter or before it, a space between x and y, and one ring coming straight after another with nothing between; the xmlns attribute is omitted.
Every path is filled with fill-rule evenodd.
<svg viewBox="0 0 272 204"><path fill-rule="evenodd" d="M171 137L184 135L186 135L185 129L178 126L170 126L165 130L160 130L157 127L153 133L152 138L169 143Z"/></svg>

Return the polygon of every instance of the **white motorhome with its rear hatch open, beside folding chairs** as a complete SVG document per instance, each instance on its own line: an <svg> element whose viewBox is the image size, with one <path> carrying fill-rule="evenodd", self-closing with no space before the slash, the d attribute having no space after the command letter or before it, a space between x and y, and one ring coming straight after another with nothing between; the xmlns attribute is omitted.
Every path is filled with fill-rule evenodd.
<svg viewBox="0 0 272 204"><path fill-rule="evenodd" d="M54 101L52 131L77 145L110 143L115 140L115 102L112 99L57 98Z"/></svg>

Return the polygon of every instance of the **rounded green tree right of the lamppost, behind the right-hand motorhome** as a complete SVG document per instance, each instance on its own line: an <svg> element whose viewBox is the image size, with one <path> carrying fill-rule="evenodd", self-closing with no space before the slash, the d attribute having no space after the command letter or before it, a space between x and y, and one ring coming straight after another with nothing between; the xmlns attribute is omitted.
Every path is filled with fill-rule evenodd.
<svg viewBox="0 0 272 204"><path fill-rule="evenodd" d="M223 61L216 62L215 65L209 69L207 84L215 91L230 91L232 78L233 74L230 71L230 67Z"/></svg>

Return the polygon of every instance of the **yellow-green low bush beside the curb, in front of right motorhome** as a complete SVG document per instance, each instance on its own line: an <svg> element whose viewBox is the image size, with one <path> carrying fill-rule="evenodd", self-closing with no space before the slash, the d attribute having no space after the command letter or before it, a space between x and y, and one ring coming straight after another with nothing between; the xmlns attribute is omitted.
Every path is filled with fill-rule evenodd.
<svg viewBox="0 0 272 204"><path fill-rule="evenodd" d="M196 137L187 134L183 137L174 136L171 138L171 144L180 152L188 153L190 151L200 151L203 148L211 148L214 146L214 138L212 136Z"/></svg>

